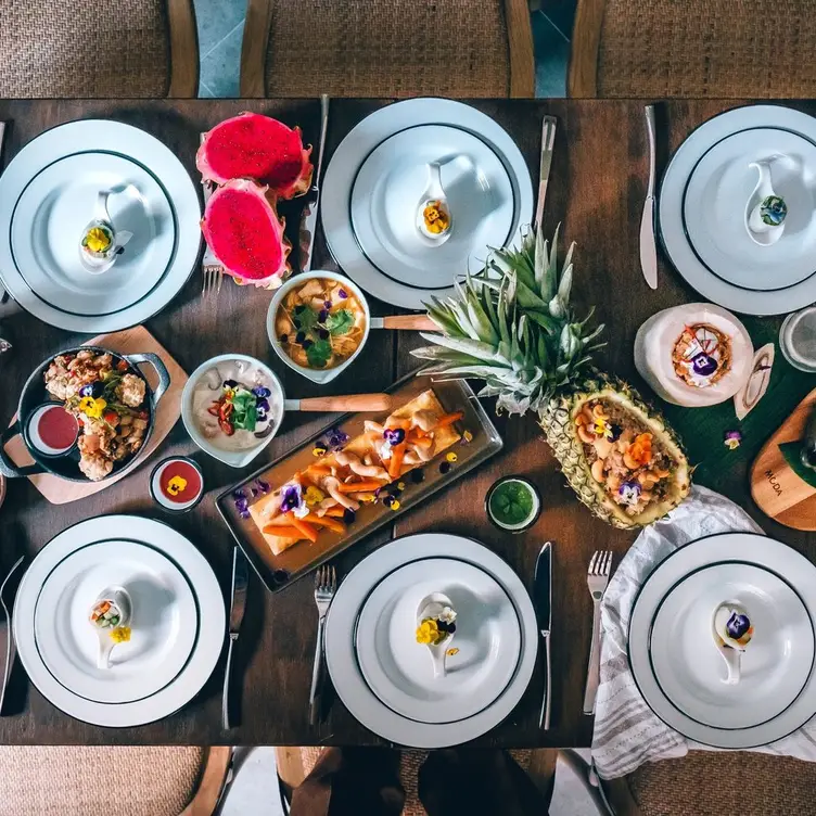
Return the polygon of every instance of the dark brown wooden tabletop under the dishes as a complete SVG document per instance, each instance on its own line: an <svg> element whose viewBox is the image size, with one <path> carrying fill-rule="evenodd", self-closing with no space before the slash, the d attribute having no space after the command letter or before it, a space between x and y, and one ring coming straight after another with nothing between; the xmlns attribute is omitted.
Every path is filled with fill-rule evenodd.
<svg viewBox="0 0 816 816"><path fill-rule="evenodd" d="M383 101L332 102L327 161L348 130L365 115L387 104ZM521 148L537 182L541 116L558 117L556 154L547 196L545 230L562 222L566 240L577 241L573 286L578 311L596 304L607 323L609 346L602 367L641 385L632 347L640 323L659 309L697 299L691 289L660 259L660 288L646 285L638 262L638 228L648 175L642 103L627 101L485 101L473 103L499 122ZM659 170L671 152L698 125L736 106L734 101L680 101L659 107ZM816 103L795 104L816 113ZM31 138L54 125L87 117L110 117L153 133L167 144L195 176L199 135L221 119L251 110L299 125L309 142L318 137L319 104L306 100L195 100L142 101L0 101L0 120L12 123L4 162ZM123 145L127 148L127 145ZM536 184L537 186L537 184ZM290 227L296 231L299 204L285 205ZM294 237L294 232L292 232ZM322 235L318 235L314 268L335 269ZM297 377L278 361L268 347L264 319L269 292L225 282L220 297L202 301L201 278L195 275L183 291L148 327L189 372L204 359L225 352L255 355L270 362L291 396L317 395L318 386ZM392 309L372 303L375 315ZM3 388L0 417L11 418L20 386L40 360L81 337L40 323L21 314L3 324L14 350L0 359ZM361 359L329 388L332 393L378 391L416 368L409 350L418 337L409 333L377 332ZM323 417L289 415L283 432L267 449L280 456L316 432ZM633 533L613 530L594 519L577 502L558 472L556 461L537 431L533 417L498 420L505 450L487 466L442 492L421 509L406 514L371 540L353 547L337 559L342 573L393 533L446 531L477 538L505 558L527 585L535 559L546 539L553 550L552 729L538 729L541 700L540 661L533 680L511 716L476 741L484 747L588 745L592 719L582 713L584 681L591 629L591 602L586 589L586 568L596 549L611 548L617 559L634 539ZM770 433L774 429L768 429ZM181 423L160 449L161 456L191 454L192 442ZM205 455L195 458L204 468L209 488L191 513L170 523L188 535L218 574L229 592L232 538L214 507L214 496L241 475ZM251 466L253 469L259 462ZM18 553L34 556L53 535L84 519L110 512L155 514L148 495L150 464L120 483L85 501L54 507L26 480L10 480L0 511L0 568ZM248 470L248 469L247 469ZM503 535L488 523L483 501L487 487L501 474L523 473L540 488L545 511L535 527L518 536ZM766 532L811 554L816 536L780 527L753 507L744 468L723 473L716 487L745 507ZM4 572L4 570L2 570ZM212 678L191 703L166 719L138 728L104 729L86 725L58 711L30 684L15 684L17 712L0 719L0 743L186 743L186 744L378 744L381 740L360 726L334 701L329 716L316 728L308 725L308 693L316 634L313 583L305 579L272 597L253 576L241 638L235 650L234 686L240 690L242 724L230 732L220 727L220 689L224 655ZM18 675L21 673L18 672ZM17 679L20 679L17 677Z"/></svg>

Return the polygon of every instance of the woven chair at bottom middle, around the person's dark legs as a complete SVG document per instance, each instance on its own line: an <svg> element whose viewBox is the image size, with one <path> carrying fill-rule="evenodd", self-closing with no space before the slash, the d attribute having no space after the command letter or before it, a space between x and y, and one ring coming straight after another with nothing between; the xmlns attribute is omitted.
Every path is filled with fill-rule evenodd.
<svg viewBox="0 0 816 816"><path fill-rule="evenodd" d="M275 762L278 767L281 795L289 803L292 791L311 773L322 753L322 748L276 748ZM541 794L549 801L556 774L557 752L552 750L511 751L519 765L530 775ZM428 751L401 752L399 780L405 789L405 806L401 816L426 816L419 801L417 777L428 757ZM0 814L0 816L2 816ZM362 816L362 814L360 815Z"/></svg>

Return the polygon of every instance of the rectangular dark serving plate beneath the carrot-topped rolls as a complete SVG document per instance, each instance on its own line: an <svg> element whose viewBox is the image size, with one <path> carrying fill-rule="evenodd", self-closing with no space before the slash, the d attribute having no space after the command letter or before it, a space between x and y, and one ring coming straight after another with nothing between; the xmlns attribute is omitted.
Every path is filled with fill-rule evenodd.
<svg viewBox="0 0 816 816"><path fill-rule="evenodd" d="M281 552L280 556L276 556L255 522L251 518L241 517L233 495L235 490L243 490L250 505L258 501L263 498L263 494L256 489L257 495L252 495L255 480L260 479L268 483L272 489L280 487L292 479L295 472L305 470L309 464L315 463L313 448L318 441L326 436L328 431L337 429L354 438L362 433L364 420L371 419L382 422L388 416L387 411L346 413L339 417L295 450L269 464L265 464L216 498L218 512L269 591L277 592L288 587L292 582L315 570L324 561L342 552L346 547L350 547L370 535L383 524L394 521L394 519L477 468L494 454L501 450L503 443L498 431L473 390L463 380L432 382L431 378L410 374L395 383L387 390L387 393L395 397L394 406L398 408L429 388L436 394L446 412L464 412L464 417L456 423L456 429L460 434L470 431L473 438L470 442L460 439L445 451L445 454L452 451L457 456L456 463L451 466L447 473L439 471L439 463L445 461L445 456L439 455L422 468L424 473L422 482L416 483L410 477L405 479L405 489L399 494L398 510L387 508L381 502L362 505L357 512L356 520L345 533L331 533L324 530L321 531L315 544L298 541Z"/></svg>

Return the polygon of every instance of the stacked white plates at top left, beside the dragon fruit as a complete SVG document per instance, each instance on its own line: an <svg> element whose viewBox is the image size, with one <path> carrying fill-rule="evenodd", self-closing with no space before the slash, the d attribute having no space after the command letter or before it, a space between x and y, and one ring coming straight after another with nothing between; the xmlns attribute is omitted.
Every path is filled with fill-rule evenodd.
<svg viewBox="0 0 816 816"><path fill-rule="evenodd" d="M97 196L132 232L114 266L89 273L79 242ZM31 140L0 176L0 276L23 308L61 329L143 322L184 285L201 245L199 192L178 157L118 122L72 122Z"/></svg>

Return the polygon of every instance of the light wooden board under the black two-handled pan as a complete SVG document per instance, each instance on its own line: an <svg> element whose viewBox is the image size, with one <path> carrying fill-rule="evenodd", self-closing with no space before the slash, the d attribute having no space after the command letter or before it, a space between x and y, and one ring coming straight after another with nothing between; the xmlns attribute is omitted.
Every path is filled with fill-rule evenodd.
<svg viewBox="0 0 816 816"><path fill-rule="evenodd" d="M84 345L101 346L119 354L152 352L153 354L157 354L167 367L167 371L170 374L170 385L158 401L153 421L153 433L143 451L139 455L140 462L144 462L162 444L181 416L181 392L188 379L187 373L170 356L170 353L143 326L125 329L125 331L113 334L100 334ZM158 385L156 372L150 366L145 366L141 369L141 372L150 383L151 388L155 388ZM13 424L15 420L16 415L12 418L10 424ZM34 459L31 459L26 450L22 436L15 436L11 439L5 446L5 451L17 466L23 467L34 463ZM125 479L125 476L132 472L125 471L102 482L69 482L51 473L39 473L36 476L28 476L28 480L52 505L67 505L69 501L76 501L77 499L104 490L105 487L116 484L120 479Z"/></svg>

